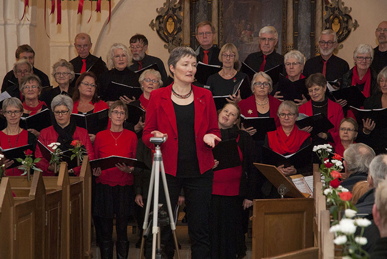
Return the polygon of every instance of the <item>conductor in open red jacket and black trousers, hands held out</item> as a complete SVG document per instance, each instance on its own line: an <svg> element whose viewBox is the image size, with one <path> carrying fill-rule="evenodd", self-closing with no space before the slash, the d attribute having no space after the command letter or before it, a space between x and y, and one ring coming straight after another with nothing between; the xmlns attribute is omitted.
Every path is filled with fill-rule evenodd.
<svg viewBox="0 0 387 259"><path fill-rule="evenodd" d="M212 193L214 157L211 148L220 141L215 103L211 92L191 83L196 73L196 54L189 47L175 48L168 59L174 82L151 92L143 141L167 136L161 145L171 205L184 190L192 259L210 259L208 215ZM160 185L160 203L165 204ZM164 200L164 201L163 201ZM169 232L162 237L168 239ZM148 242L148 244L151 242ZM146 251L146 258L151 252ZM168 258L173 257L173 251Z"/></svg>

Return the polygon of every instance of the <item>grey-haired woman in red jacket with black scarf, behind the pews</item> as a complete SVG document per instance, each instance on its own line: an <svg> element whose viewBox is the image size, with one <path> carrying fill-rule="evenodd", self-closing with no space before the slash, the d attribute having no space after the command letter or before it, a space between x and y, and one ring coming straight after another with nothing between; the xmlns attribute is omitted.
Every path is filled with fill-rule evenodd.
<svg viewBox="0 0 387 259"><path fill-rule="evenodd" d="M38 140L46 147L52 142L59 142L62 151L73 148L71 141L79 140L86 148L87 156L94 159L94 150L90 142L87 130L79 128L71 119L72 100L66 95L57 95L52 99L51 110L55 116L52 126L42 129ZM49 147L48 147L49 148ZM53 152L53 150L51 150ZM43 170L43 176L54 176L53 165L42 156L39 146L36 146L35 157L41 158L37 167ZM71 173L79 175L80 166L70 170Z"/></svg>

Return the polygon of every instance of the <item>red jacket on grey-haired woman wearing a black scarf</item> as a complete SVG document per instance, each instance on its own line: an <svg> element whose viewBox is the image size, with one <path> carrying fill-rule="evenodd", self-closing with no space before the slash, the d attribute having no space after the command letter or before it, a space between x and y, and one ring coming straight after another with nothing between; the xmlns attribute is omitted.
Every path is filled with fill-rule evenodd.
<svg viewBox="0 0 387 259"><path fill-rule="evenodd" d="M40 131L40 135L39 135L38 140L44 146L47 147L52 142L56 142L56 140L58 139L58 136L59 136L59 134L54 130L54 126L49 126L48 128L42 129ZM89 156L89 160L94 159L94 150L93 150L93 147L91 145L91 141L90 141L89 135L87 133L87 130L85 130L83 128L76 127L75 132L72 135L72 139L78 139L78 140L82 141L82 143L84 144L84 146L86 148L87 155ZM59 146L59 148L60 148L60 146ZM48 148L48 149L50 149L50 148ZM52 149L50 149L50 150L53 151ZM37 168L40 168L41 170L43 170L43 176L54 176L53 172L47 171L47 168L49 166L49 161L47 161L42 156L39 145L36 145L35 157L41 158L41 160L36 164L36 166L37 166ZM74 170L74 173L76 175L79 175L80 166L73 168L73 170Z"/></svg>

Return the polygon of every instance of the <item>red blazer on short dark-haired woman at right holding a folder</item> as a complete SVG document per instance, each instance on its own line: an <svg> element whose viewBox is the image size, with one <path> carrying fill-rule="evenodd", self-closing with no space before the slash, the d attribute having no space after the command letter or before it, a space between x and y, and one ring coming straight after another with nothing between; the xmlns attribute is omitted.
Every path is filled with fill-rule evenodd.
<svg viewBox="0 0 387 259"><path fill-rule="evenodd" d="M299 112L304 113L308 116L312 116L312 101L309 100L307 103L301 105L299 108ZM334 126L332 129L328 130L328 133L331 133L333 139L335 139L339 135L339 126L343 118L344 112L341 105L328 99L328 119Z"/></svg>

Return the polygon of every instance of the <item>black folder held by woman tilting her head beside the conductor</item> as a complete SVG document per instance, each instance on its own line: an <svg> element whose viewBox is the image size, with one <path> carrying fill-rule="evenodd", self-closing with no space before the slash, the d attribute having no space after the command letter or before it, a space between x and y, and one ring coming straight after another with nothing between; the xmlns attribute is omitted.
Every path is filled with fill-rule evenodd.
<svg viewBox="0 0 387 259"><path fill-rule="evenodd" d="M230 139L219 142L213 149L214 159L219 161L219 165L214 171L233 168L241 165L239 151L236 139Z"/></svg>

